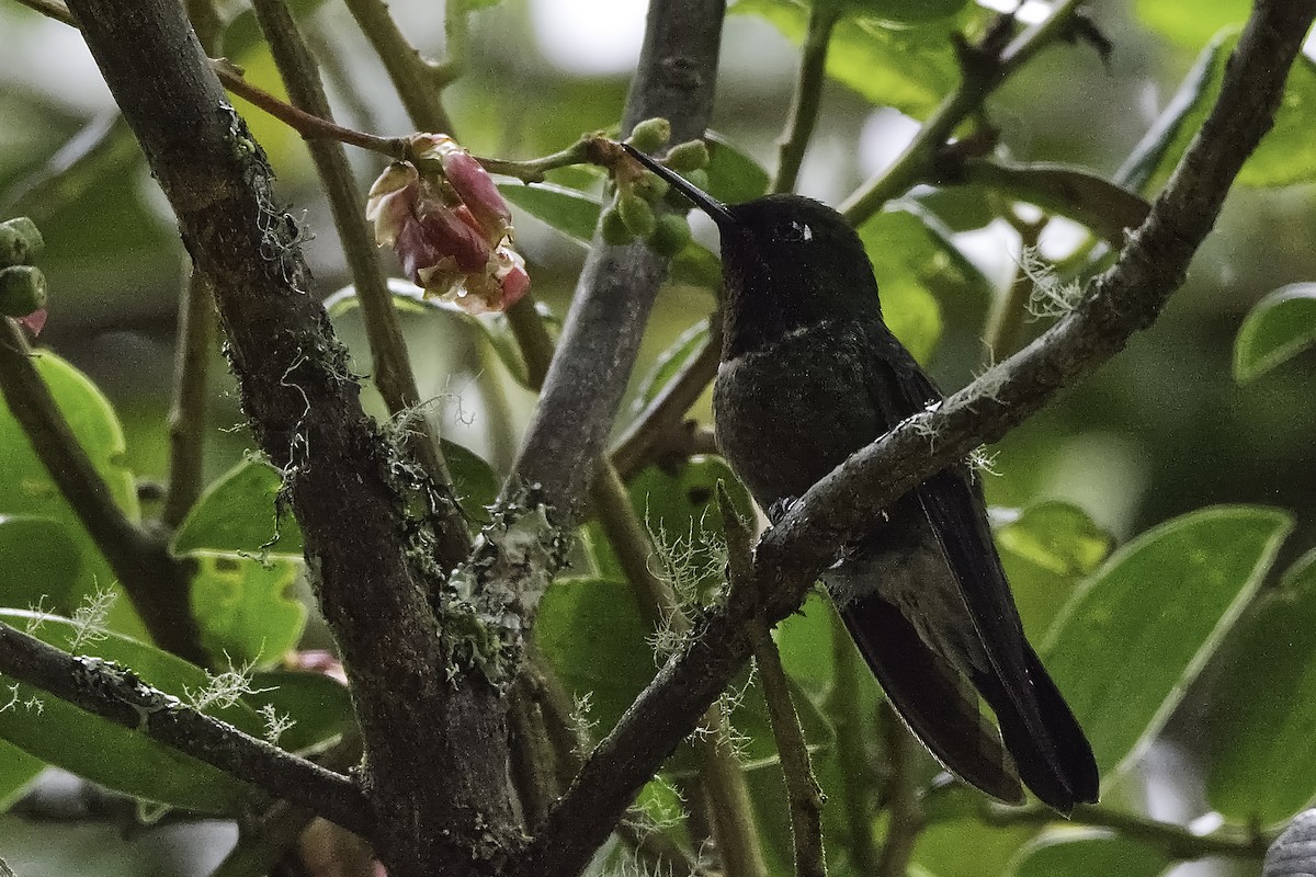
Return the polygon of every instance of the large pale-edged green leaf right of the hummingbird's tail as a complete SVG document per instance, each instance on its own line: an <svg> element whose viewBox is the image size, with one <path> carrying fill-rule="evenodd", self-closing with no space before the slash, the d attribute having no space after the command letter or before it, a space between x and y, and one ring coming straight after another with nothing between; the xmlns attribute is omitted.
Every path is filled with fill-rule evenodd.
<svg viewBox="0 0 1316 877"><path fill-rule="evenodd" d="M1165 724L1292 529L1283 511L1215 506L1124 546L1051 627L1044 663L1103 774Z"/></svg>

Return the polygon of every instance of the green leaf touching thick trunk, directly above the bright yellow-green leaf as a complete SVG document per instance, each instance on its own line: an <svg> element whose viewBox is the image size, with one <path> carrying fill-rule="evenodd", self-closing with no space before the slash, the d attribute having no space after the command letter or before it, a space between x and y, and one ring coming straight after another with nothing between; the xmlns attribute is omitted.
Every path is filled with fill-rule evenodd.
<svg viewBox="0 0 1316 877"><path fill-rule="evenodd" d="M283 476L262 460L243 460L216 479L187 513L172 551L301 556L301 529L279 501Z"/></svg>

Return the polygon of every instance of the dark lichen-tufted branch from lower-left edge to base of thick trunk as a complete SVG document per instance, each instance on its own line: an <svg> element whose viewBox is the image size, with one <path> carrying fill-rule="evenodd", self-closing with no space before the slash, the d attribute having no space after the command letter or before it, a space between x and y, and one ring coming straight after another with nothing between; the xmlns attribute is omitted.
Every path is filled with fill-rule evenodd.
<svg viewBox="0 0 1316 877"><path fill-rule="evenodd" d="M0 622L0 669L272 797L370 836L370 807L351 780L197 713L146 685L132 671L95 657L75 657L4 622Z"/></svg>

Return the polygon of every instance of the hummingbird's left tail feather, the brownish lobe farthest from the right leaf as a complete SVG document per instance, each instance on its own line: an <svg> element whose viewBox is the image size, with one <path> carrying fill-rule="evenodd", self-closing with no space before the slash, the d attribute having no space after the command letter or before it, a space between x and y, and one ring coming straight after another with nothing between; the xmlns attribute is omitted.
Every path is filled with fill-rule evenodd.
<svg viewBox="0 0 1316 877"><path fill-rule="evenodd" d="M979 710L978 693L969 680L928 648L913 626L884 600L863 597L846 604L840 613L891 706L928 751L948 770L994 798L1023 802L1024 792L1011 756ZM1094 788L1095 782L1094 774Z"/></svg>

